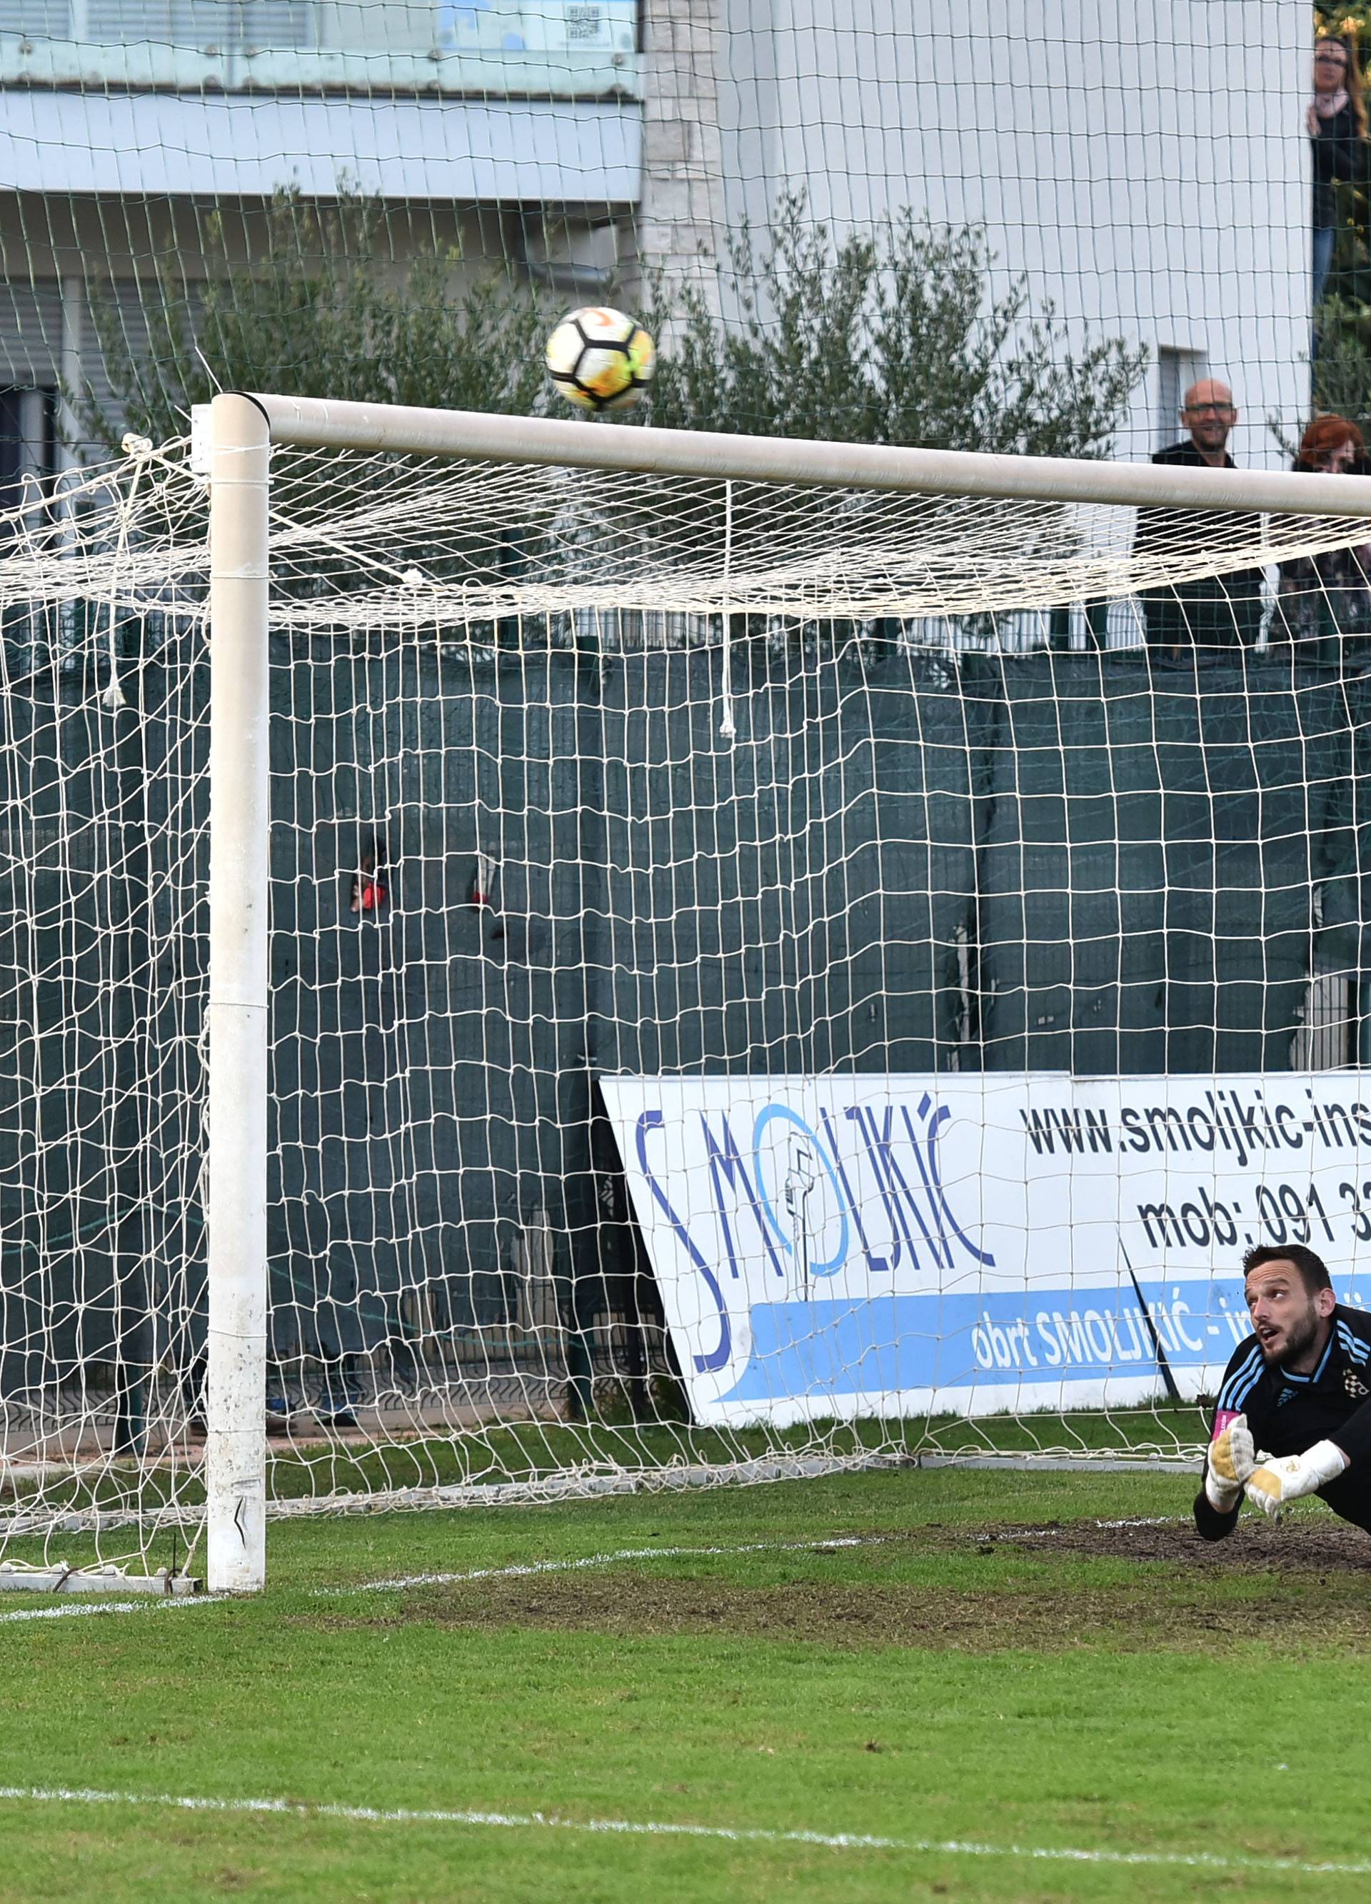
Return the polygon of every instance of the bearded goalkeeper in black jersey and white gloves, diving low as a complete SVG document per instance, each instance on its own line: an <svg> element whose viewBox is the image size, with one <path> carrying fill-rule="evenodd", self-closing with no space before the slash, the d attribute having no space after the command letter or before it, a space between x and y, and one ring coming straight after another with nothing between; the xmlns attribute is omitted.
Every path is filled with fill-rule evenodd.
<svg viewBox="0 0 1371 1904"><path fill-rule="evenodd" d="M1222 1540L1243 1495L1272 1519L1320 1495L1371 1533L1371 1316L1301 1243L1249 1249L1243 1276L1253 1333L1219 1388L1196 1527Z"/></svg>

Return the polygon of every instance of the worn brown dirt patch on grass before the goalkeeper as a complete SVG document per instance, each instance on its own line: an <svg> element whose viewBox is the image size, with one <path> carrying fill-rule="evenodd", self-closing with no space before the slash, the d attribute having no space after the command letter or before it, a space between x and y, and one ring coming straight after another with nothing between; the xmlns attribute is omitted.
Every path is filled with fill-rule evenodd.
<svg viewBox="0 0 1371 1904"><path fill-rule="evenodd" d="M731 1580L718 1561L695 1577L607 1565L575 1575L428 1586L407 1594L388 1615L328 1624L524 1626L626 1637L714 1634L977 1653L1078 1645L1213 1649L1224 1639L1280 1639L1289 1647L1295 1624L1308 1628L1320 1645L1371 1649L1371 1594L1365 1594L1371 1538L1321 1521L1272 1527L1245 1517L1222 1544L1202 1542L1179 1521L998 1525L973 1533L924 1527L880 1538L861 1559L851 1548L828 1552L844 1567L842 1578L825 1580L811 1565L792 1580L765 1584ZM983 1557L984 1588L891 1578L891 1559L910 1552ZM1049 1565L1023 1569L1024 1557ZM1091 1582L1070 1563L1093 1557L1163 1565L1139 1567L1133 1578ZM1057 1559L1066 1565L1053 1578ZM870 1565L872 1577L853 1578L853 1565Z"/></svg>

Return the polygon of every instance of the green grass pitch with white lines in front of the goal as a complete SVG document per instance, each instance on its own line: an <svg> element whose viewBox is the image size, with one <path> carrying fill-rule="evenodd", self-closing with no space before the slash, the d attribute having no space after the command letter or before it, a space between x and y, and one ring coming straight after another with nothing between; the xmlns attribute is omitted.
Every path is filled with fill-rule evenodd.
<svg viewBox="0 0 1371 1904"><path fill-rule="evenodd" d="M1211 1550L1190 1493L303 1521L259 1601L15 1596L0 1893L1361 1900L1371 1540L1316 1504Z"/></svg>

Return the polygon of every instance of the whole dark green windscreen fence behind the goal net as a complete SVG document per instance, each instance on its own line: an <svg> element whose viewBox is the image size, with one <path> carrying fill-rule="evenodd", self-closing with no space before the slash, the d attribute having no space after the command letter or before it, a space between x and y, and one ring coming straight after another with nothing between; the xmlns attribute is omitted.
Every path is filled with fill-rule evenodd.
<svg viewBox="0 0 1371 1904"><path fill-rule="evenodd" d="M282 1363L314 1380L407 1340L413 1291L427 1327L503 1316L535 1213L562 1300L604 1310L606 1074L1358 1055L1363 680L885 642L731 661L725 739L718 649L274 645ZM194 1378L200 1354L198 636L126 663L118 712L105 682L86 655L4 699L17 1388L109 1359L129 1264L164 1318L149 1367Z"/></svg>

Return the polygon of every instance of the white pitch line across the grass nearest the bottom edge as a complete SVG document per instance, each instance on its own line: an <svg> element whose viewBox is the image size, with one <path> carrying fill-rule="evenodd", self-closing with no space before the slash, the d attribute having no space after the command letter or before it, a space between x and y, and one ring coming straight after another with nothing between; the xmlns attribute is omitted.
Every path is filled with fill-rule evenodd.
<svg viewBox="0 0 1371 1904"><path fill-rule="evenodd" d="M169 1792L82 1792L65 1786L0 1786L2 1803L137 1805L238 1816L339 1818L347 1824L465 1824L505 1832L577 1832L594 1837L699 1837L729 1845L819 1845L828 1851L903 1851L912 1856L1026 1858L1055 1864L1122 1864L1196 1872L1268 1872L1285 1877L1371 1877L1371 1862L1262 1858L1217 1851L1114 1851L1085 1845L984 1845L962 1837L878 1837L870 1832L777 1832L762 1826L666 1824L646 1818L560 1818L546 1811L409 1811L381 1805L308 1805L288 1797L177 1797Z"/></svg>

